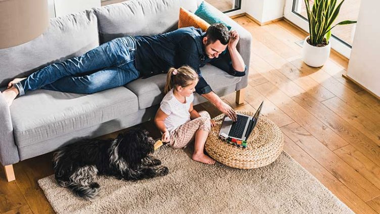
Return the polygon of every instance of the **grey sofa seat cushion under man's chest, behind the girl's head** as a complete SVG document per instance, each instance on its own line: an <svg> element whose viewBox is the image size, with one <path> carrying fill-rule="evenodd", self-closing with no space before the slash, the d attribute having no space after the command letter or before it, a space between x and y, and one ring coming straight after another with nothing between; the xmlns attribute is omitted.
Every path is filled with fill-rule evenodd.
<svg viewBox="0 0 380 214"><path fill-rule="evenodd" d="M201 71L202 76L213 90L234 85L242 79L242 77L231 76L213 65L205 65ZM137 95L139 108L145 109L160 104L164 97L165 82L166 74L159 74L149 78L136 79L125 86Z"/></svg>

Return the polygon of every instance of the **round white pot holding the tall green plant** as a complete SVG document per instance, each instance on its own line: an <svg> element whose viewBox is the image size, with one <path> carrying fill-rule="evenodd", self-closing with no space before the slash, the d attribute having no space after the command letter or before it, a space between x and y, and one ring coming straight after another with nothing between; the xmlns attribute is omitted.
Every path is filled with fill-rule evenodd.
<svg viewBox="0 0 380 214"><path fill-rule="evenodd" d="M320 67L324 65L327 61L328 56L330 56L331 42L325 47L315 47L307 42L306 37L304 41L304 46L302 48L302 58L304 62L311 67Z"/></svg>

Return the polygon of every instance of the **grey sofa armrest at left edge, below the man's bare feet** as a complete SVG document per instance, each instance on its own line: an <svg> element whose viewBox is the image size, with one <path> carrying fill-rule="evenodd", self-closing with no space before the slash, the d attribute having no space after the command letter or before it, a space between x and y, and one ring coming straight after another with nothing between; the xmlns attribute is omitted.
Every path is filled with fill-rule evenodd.
<svg viewBox="0 0 380 214"><path fill-rule="evenodd" d="M13 125L8 104L0 93L0 162L3 166L20 161L19 152L13 138Z"/></svg>

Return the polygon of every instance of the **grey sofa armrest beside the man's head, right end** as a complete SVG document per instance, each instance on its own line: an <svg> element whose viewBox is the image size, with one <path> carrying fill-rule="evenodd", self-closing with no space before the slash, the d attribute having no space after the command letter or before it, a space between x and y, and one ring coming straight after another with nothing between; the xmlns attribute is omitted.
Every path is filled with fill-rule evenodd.
<svg viewBox="0 0 380 214"><path fill-rule="evenodd" d="M200 4L200 2L199 2ZM204 2L204 4L208 4L207 2ZM213 7L212 5L208 4L210 7ZM241 89L244 89L248 85L248 74L250 69L250 59L251 59L251 42L252 42L252 35L251 33L244 29L240 24L237 24L235 21L233 21L231 18L229 18L227 15L222 13L221 11L217 10L218 17L221 17L221 19L228 25L231 26L231 30L236 30L239 33L240 39L239 43L237 43L237 51L239 51L240 55L242 55L242 58L244 60L244 63L247 66L246 75L242 76L242 80L236 84L236 91L239 91Z"/></svg>

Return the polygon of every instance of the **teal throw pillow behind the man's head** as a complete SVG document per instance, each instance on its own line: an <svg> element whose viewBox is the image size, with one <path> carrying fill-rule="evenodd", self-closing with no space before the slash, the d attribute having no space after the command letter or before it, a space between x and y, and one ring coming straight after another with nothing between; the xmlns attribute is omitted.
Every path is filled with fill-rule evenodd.
<svg viewBox="0 0 380 214"><path fill-rule="evenodd" d="M229 26L228 24L223 22L221 18L219 18L221 17L221 15L223 15L223 13L220 12L218 9L205 4L205 2L201 3L201 5L198 7L197 11L194 14L201 17L201 19L205 20L209 24L222 23L228 28L228 30L231 30L231 26Z"/></svg>

